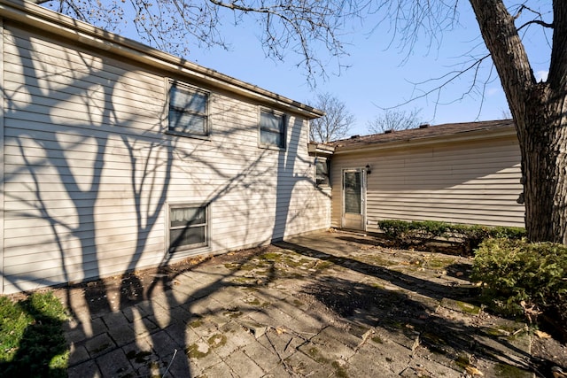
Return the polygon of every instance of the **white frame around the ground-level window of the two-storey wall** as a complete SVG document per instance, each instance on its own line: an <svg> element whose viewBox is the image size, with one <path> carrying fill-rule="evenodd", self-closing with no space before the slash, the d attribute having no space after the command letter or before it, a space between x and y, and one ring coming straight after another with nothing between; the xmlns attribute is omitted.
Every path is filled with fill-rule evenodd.
<svg viewBox="0 0 567 378"><path fill-rule="evenodd" d="M203 251L209 251L211 248L211 203L202 203L202 202L174 202L167 204L167 213L166 213L166 252L167 255L171 256L186 256L190 254L198 254L202 253ZM172 209L183 209L183 208L196 208L196 207L204 207L205 208L205 223L199 223L197 225L191 225L190 228L198 228L198 227L205 227L205 241L203 243L197 244L187 244L184 246L179 246L172 250L171 243L171 231L174 229L181 229L183 227L171 226L171 211Z"/></svg>

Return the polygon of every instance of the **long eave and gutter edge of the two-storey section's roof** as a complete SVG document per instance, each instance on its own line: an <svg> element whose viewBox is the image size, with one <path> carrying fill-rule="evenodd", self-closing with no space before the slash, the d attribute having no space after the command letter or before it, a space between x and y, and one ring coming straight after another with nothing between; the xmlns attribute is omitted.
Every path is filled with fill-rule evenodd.
<svg viewBox="0 0 567 378"><path fill-rule="evenodd" d="M0 17L66 37L90 49L105 50L119 57L134 59L136 62L158 68L167 74L183 75L190 81L203 84L211 89L226 90L260 104L295 112L307 119L324 115L321 110L307 104L301 104L183 58L152 49L143 43L114 35L99 27L93 27L88 23L53 12L29 1L0 0Z"/></svg>

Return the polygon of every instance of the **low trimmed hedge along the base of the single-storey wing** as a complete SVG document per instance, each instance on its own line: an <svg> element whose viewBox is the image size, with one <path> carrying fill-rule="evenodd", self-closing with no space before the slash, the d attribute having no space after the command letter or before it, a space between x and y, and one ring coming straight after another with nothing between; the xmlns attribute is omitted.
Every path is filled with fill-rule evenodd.
<svg viewBox="0 0 567 378"><path fill-rule="evenodd" d="M403 246L445 240L460 245L467 254L490 237L517 240L525 235L524 228L463 225L437 220L378 220L378 228Z"/></svg>

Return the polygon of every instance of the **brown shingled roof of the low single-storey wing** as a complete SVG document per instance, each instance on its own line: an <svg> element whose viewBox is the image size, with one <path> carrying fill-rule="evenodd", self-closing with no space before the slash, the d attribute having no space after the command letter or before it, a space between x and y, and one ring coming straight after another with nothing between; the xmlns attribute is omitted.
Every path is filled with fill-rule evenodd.
<svg viewBox="0 0 567 378"><path fill-rule="evenodd" d="M327 143L335 147L335 151L360 150L392 143L409 143L423 141L433 142L441 137L461 136L463 139L474 135L482 135L487 131L505 131L509 134L515 132L513 120L486 120L478 122L446 123L437 126L423 125L419 128L410 128L385 132L373 135L353 135L348 139L341 139Z"/></svg>

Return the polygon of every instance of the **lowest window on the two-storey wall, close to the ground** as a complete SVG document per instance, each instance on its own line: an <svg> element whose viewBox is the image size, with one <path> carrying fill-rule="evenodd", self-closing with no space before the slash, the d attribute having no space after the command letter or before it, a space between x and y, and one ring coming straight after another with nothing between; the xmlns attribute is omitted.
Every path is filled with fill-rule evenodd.
<svg viewBox="0 0 567 378"><path fill-rule="evenodd" d="M169 206L169 253L194 250L209 245L208 212L208 204Z"/></svg>

